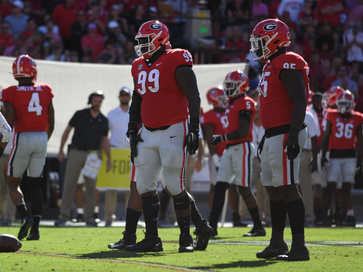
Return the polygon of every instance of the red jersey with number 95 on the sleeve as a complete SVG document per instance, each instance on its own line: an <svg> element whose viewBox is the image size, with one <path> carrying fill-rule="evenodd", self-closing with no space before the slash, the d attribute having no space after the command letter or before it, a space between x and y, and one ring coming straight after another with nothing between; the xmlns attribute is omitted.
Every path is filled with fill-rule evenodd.
<svg viewBox="0 0 363 272"><path fill-rule="evenodd" d="M279 78L281 70L284 69L301 70L306 101L309 97L309 66L300 55L287 52L266 62L260 81L260 119L265 129L291 123L293 102Z"/></svg>

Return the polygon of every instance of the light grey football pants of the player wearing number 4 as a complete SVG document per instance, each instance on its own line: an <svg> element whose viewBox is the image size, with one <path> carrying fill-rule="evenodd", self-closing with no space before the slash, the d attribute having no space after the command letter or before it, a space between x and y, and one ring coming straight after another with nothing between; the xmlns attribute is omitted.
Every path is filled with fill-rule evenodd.
<svg viewBox="0 0 363 272"><path fill-rule="evenodd" d="M28 169L29 177L41 177L45 165L47 142L48 134L45 131L16 133L6 174L20 178Z"/></svg>

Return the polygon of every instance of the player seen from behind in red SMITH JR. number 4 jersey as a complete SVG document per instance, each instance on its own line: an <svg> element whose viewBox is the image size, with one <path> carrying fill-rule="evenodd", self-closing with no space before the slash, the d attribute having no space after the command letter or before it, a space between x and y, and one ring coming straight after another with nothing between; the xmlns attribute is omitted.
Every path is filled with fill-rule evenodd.
<svg viewBox="0 0 363 272"><path fill-rule="evenodd" d="M45 165L47 142L54 129L52 88L46 83L36 83L38 67L30 56L20 55L13 63L13 75L18 86L1 92L5 118L14 125L13 147L7 165L9 194L19 211L22 223L18 239L39 240L39 222L43 208L41 180ZM26 210L20 181L25 170L31 184L32 217Z"/></svg>

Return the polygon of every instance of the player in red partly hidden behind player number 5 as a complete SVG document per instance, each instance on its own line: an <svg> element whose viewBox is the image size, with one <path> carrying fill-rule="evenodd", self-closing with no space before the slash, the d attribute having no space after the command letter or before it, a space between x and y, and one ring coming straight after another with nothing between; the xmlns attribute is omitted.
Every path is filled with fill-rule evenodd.
<svg viewBox="0 0 363 272"><path fill-rule="evenodd" d="M211 187L209 188L208 202L209 211L212 210L213 194L216 186L216 177L219 169L219 161L226 147L226 142L221 142L214 147L211 143L214 134L224 134L222 119L224 118L227 97L222 89L222 86L211 88L207 92L208 104L213 105L213 109L200 114L200 124L203 129L204 139L208 144L209 149L209 178ZM228 187L228 202L232 209L233 227L246 227L247 224L241 221L238 214L239 194L235 184ZM210 217L210 215L209 215Z"/></svg>

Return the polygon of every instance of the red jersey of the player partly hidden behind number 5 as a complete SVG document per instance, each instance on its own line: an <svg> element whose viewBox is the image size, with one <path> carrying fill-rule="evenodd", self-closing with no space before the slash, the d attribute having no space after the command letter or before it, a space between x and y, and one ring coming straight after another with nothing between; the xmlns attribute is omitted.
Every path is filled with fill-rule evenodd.
<svg viewBox="0 0 363 272"><path fill-rule="evenodd" d="M205 112L200 116L200 125L212 124L214 127L214 134L224 134L224 128L222 119L224 118L224 113L210 110ZM220 142L216 145L216 151L218 156L222 156L224 149L226 148L226 142Z"/></svg>

